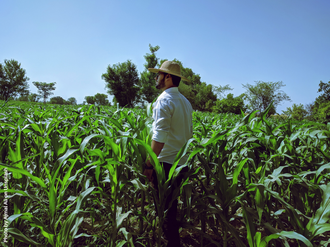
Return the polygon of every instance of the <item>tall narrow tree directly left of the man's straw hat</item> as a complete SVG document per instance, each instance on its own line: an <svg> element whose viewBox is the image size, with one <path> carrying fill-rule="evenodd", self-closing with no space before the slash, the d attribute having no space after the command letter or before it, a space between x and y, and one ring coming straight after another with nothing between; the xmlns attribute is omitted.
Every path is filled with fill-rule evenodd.
<svg viewBox="0 0 330 247"><path fill-rule="evenodd" d="M156 57L156 51L159 50L159 46L151 46L149 44L149 50L151 52L147 53L144 58L146 63L144 66L144 71L140 74L140 92L141 100L151 103L159 94L156 89L155 74L151 73L148 68L154 68L158 63L158 58Z"/></svg>

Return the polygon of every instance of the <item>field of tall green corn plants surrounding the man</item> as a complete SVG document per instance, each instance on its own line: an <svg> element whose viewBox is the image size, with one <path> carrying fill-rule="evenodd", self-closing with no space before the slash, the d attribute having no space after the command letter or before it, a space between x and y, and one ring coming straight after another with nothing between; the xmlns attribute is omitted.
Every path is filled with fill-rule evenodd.
<svg viewBox="0 0 330 247"><path fill-rule="evenodd" d="M1 246L163 246L183 155L189 172L174 193L183 246L330 244L330 124L194 112L193 138L165 181L151 113L3 105ZM158 192L142 175L148 154Z"/></svg>

